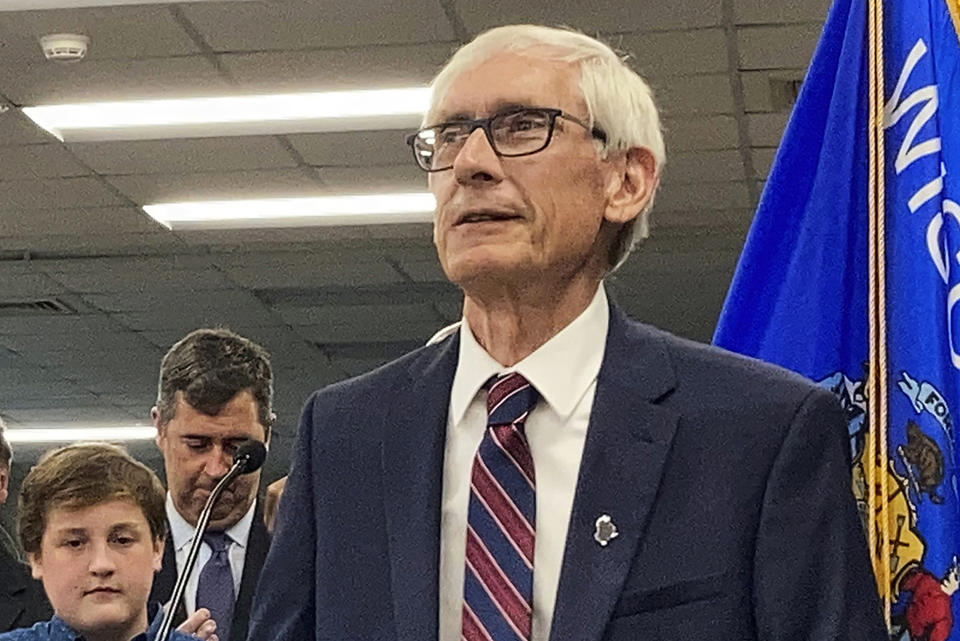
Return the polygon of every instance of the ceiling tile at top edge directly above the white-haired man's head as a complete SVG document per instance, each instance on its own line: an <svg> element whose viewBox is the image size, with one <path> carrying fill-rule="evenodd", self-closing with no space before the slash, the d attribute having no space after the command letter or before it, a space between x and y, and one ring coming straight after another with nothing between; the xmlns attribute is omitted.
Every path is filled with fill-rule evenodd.
<svg viewBox="0 0 960 641"><path fill-rule="evenodd" d="M572 24L585 33L623 33L712 27L722 22L720 0L647 2L621 0L460 0L457 12L472 33L502 24ZM589 8L587 8L589 7Z"/></svg>

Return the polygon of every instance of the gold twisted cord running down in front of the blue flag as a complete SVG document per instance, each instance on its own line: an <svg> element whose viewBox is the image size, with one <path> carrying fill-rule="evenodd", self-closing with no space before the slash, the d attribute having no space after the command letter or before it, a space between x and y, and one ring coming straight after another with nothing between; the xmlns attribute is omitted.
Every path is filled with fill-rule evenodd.
<svg viewBox="0 0 960 641"><path fill-rule="evenodd" d="M868 524L867 532L874 571L883 599L884 618L890 628L891 568L890 518L887 510L887 323L886 323L886 241L884 191L884 78L883 0L868 0L870 118L869 146L869 325L870 374L867 436Z"/></svg>

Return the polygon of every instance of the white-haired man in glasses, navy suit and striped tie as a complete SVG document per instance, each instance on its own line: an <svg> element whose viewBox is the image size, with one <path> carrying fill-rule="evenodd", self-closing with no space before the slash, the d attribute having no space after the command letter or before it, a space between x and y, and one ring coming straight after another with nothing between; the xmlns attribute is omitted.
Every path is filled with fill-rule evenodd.
<svg viewBox="0 0 960 641"><path fill-rule="evenodd" d="M607 299L664 163L644 81L501 27L424 125L463 323L309 399L251 640L883 639L836 399Z"/></svg>

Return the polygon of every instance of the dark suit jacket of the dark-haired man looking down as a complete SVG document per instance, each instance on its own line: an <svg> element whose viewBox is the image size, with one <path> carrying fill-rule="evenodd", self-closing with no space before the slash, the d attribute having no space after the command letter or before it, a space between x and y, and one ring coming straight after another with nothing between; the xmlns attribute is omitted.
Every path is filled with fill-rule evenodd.
<svg viewBox="0 0 960 641"><path fill-rule="evenodd" d="M270 534L263 524L263 511L260 501L253 513L253 524L250 526L250 538L247 540L247 552L243 559L243 575L240 579L240 591L237 594L237 604L233 611L233 624L230 627L230 638L220 641L245 641L247 638L247 624L250 618L250 608L253 594L257 587L257 578L260 569L267 558L270 549ZM198 565L194 572L200 572ZM173 537L168 536L163 549L163 569L153 578L153 588L150 590L150 602L166 603L173 594L173 587L177 583L177 558L173 549ZM187 618L187 611L180 604L174 624L179 625Z"/></svg>

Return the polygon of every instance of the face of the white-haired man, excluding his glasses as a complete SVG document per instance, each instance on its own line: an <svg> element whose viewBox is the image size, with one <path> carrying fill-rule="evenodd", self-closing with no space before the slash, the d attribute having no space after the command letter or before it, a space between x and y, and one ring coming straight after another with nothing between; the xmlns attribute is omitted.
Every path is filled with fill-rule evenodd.
<svg viewBox="0 0 960 641"><path fill-rule="evenodd" d="M518 106L562 109L588 121L578 77L568 63L499 54L453 80L432 122ZM563 118L549 146L528 156L498 157L483 131L474 131L453 168L429 178L437 200L434 243L447 277L461 286L478 278L568 279L605 261L598 234L608 177L590 132ZM480 213L496 220L464 220Z"/></svg>

